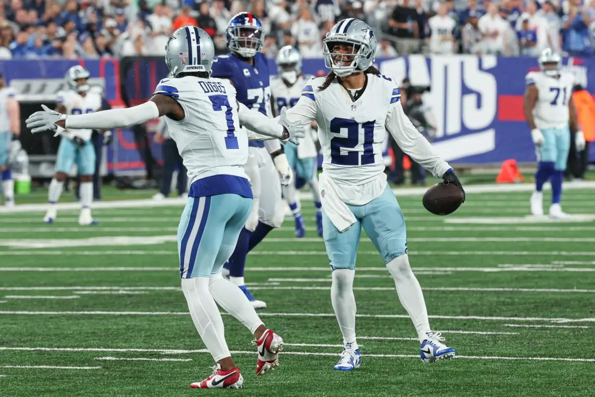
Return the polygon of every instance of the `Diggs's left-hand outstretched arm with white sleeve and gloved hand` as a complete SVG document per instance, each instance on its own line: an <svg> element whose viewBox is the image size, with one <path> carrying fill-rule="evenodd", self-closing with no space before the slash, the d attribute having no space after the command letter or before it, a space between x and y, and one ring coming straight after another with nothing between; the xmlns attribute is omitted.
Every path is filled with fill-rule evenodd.
<svg viewBox="0 0 595 397"><path fill-rule="evenodd" d="M145 123L167 114L174 120L182 120L184 111L175 99L165 95L154 95L142 105L124 109L111 109L95 113L65 115L42 105L43 111L35 112L27 118L27 128L32 133L55 131L58 135L69 129L114 129Z"/></svg>

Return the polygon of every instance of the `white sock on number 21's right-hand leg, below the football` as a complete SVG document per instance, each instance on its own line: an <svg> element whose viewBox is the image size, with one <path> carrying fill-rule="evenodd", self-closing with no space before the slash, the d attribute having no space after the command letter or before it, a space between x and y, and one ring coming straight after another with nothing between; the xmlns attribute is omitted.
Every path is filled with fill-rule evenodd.
<svg viewBox="0 0 595 397"><path fill-rule="evenodd" d="M386 268L393 276L399 301L411 317L421 343L426 339L425 334L430 332L430 320L425 307L424 293L421 292L421 286L411 270L407 254L394 258L387 263Z"/></svg>

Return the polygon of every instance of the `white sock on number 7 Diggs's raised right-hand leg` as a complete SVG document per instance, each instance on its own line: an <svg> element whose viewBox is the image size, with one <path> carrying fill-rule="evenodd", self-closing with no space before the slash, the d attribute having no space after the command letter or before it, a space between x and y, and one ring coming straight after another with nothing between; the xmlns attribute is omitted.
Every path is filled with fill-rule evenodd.
<svg viewBox="0 0 595 397"><path fill-rule="evenodd" d="M209 292L223 310L236 317L250 330L250 333L254 333L258 327L264 324L242 290L224 279L221 274L211 276Z"/></svg>

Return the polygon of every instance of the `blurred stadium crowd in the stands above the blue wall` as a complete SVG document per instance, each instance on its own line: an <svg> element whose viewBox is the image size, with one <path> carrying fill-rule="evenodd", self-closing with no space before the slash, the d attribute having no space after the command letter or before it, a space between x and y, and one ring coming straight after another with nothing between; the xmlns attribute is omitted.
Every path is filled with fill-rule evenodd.
<svg viewBox="0 0 595 397"><path fill-rule="evenodd" d="M0 59L163 55L171 32L199 26L226 52L228 20L259 17L264 52L292 44L321 56L335 21L361 18L380 36L378 57L406 54L536 56L543 48L591 55L595 0L6 0Z"/></svg>

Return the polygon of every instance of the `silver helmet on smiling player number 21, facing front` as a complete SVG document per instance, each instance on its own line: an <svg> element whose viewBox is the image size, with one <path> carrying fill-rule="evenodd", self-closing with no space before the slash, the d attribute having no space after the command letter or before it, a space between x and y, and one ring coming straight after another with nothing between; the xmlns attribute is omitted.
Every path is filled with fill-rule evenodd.
<svg viewBox="0 0 595 397"><path fill-rule="evenodd" d="M333 52L337 44L352 45L350 53ZM322 40L324 65L339 77L349 76L360 70L366 70L376 55L377 41L374 31L367 23L355 18L347 18L335 24ZM340 57L335 60L336 57ZM353 57L349 62L349 58Z"/></svg>

